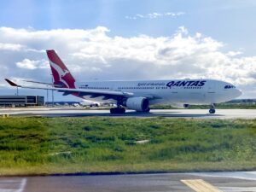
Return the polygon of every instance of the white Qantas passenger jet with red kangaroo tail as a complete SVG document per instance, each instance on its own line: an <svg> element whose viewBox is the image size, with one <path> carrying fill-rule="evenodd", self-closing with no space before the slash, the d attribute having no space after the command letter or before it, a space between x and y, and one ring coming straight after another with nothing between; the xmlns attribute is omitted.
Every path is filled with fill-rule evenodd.
<svg viewBox="0 0 256 192"><path fill-rule="evenodd" d="M49 49L46 53L54 77L51 87L20 85L9 79L5 80L10 85L21 88L57 90L63 96L73 95L91 101L113 102L116 107L111 108L110 113L125 113L124 107L137 112L149 112L150 105L153 104L170 104L177 108L209 105L209 113L215 113L216 103L228 102L241 96L241 90L235 85L215 79L76 82L55 50Z"/></svg>

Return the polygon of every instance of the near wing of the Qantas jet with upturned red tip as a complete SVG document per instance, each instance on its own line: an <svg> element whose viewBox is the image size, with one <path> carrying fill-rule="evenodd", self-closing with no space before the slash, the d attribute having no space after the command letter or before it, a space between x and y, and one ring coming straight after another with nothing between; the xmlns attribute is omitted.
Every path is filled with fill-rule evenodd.
<svg viewBox="0 0 256 192"><path fill-rule="evenodd" d="M69 89L69 88L58 88L58 87L43 87L43 86L26 86L15 84L15 82L5 79L11 86L28 88L28 89L38 89L38 90L58 90L59 92L63 92L63 96L67 96L70 94L76 96L90 96L90 98L96 98L98 96L103 96L103 100L108 99L117 99L119 97L130 97L134 94L131 92L123 92L116 90L91 90L91 89Z"/></svg>

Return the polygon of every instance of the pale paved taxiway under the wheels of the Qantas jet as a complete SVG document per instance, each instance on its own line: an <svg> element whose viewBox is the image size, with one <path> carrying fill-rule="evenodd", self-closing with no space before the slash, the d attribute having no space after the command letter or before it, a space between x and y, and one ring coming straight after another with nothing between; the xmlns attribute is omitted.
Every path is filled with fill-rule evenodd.
<svg viewBox="0 0 256 192"><path fill-rule="evenodd" d="M197 119L253 119L256 109L217 109L209 114L207 109L154 109L150 113L137 113L127 110L125 114L110 114L108 110L86 110L84 108L1 108L0 115L13 116L46 116L46 117L166 117L166 118L197 118Z"/></svg>

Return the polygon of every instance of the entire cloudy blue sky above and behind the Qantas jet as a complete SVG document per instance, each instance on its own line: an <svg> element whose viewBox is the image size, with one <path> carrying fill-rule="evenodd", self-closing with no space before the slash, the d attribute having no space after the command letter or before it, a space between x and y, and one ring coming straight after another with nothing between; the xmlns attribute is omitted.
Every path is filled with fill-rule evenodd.
<svg viewBox="0 0 256 192"><path fill-rule="evenodd" d="M77 81L220 79L256 98L255 9L254 0L0 1L0 94L16 93L5 78L50 82L45 49L55 49Z"/></svg>

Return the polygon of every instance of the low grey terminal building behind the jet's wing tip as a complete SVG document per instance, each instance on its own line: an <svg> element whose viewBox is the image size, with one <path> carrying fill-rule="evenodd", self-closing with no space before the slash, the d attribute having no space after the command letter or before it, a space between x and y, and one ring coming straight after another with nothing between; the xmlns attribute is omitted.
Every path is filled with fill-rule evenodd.
<svg viewBox="0 0 256 192"><path fill-rule="evenodd" d="M1 107L43 106L44 96L0 96Z"/></svg>

